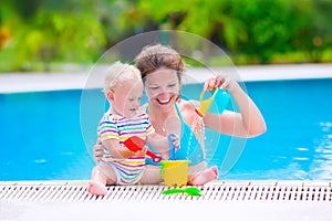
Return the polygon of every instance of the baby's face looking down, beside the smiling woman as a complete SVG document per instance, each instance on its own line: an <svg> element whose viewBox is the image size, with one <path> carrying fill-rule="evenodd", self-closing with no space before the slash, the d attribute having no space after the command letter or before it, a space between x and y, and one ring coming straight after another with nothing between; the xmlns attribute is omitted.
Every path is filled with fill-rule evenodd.
<svg viewBox="0 0 332 221"><path fill-rule="evenodd" d="M142 81L127 81L123 86L116 87L114 90L115 96L112 108L124 117L131 118L136 116L143 90Z"/></svg>

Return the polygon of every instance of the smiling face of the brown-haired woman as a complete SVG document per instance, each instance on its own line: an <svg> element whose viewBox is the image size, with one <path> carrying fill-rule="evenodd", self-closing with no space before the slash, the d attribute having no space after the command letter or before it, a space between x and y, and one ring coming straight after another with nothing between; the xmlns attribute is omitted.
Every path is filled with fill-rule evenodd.
<svg viewBox="0 0 332 221"><path fill-rule="evenodd" d="M173 108L179 95L179 81L174 70L158 69L146 75L145 90L149 103L160 112Z"/></svg>

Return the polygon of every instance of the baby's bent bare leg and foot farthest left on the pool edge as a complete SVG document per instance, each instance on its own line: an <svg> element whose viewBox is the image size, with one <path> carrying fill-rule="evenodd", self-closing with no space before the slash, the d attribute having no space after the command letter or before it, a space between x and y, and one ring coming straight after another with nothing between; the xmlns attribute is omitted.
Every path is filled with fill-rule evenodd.
<svg viewBox="0 0 332 221"><path fill-rule="evenodd" d="M107 194L106 185L116 182L116 173L114 169L107 165L96 166L92 170L91 181L87 186L87 192L91 194Z"/></svg>

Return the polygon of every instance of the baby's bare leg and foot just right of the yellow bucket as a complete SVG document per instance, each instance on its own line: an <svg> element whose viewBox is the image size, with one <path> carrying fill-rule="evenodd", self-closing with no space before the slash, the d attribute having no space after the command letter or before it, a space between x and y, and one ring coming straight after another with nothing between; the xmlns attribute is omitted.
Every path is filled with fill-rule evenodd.
<svg viewBox="0 0 332 221"><path fill-rule="evenodd" d="M204 186L218 178L218 168L216 166L207 168L205 162L189 168L188 185Z"/></svg>

